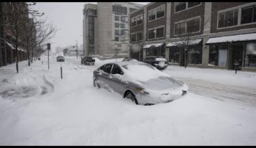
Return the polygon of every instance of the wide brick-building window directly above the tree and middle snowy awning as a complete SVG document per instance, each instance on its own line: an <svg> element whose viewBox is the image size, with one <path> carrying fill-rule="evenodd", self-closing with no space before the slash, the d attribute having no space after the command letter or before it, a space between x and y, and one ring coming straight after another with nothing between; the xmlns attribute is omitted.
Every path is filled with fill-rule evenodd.
<svg viewBox="0 0 256 148"><path fill-rule="evenodd" d="M183 22L174 23L174 34L188 34L200 31L200 18L193 20L184 20Z"/></svg>

